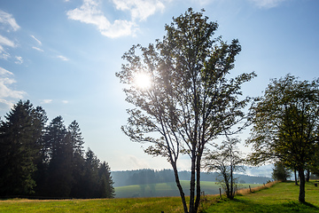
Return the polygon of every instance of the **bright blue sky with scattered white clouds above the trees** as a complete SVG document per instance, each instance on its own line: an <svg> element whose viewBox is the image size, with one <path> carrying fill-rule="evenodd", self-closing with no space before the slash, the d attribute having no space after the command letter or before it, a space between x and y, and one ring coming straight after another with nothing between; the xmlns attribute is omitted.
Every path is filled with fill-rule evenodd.
<svg viewBox="0 0 319 213"><path fill-rule="evenodd" d="M269 79L288 73L318 77L318 0L1 0L0 116L29 99L50 121L76 120L85 147L111 170L169 169L121 132L133 106L115 73L124 52L162 39L165 24L189 7L217 21L216 36L239 40L232 75L258 75L243 86L245 96L262 95ZM189 170L189 159L178 167Z"/></svg>

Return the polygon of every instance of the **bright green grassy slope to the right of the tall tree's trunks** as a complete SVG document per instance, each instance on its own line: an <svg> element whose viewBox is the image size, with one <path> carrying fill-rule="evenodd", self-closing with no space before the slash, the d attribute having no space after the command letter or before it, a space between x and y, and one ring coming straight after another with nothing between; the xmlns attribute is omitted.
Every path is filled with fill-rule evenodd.
<svg viewBox="0 0 319 213"><path fill-rule="evenodd" d="M278 183L258 192L237 195L233 201L206 201L203 212L319 212L319 188L314 181L306 184L306 204L300 203L298 196L299 185Z"/></svg>

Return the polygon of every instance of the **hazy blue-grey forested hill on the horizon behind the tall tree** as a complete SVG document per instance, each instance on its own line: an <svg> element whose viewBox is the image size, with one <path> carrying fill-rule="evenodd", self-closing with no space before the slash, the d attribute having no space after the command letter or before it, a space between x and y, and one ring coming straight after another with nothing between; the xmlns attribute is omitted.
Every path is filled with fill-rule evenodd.
<svg viewBox="0 0 319 213"><path fill-rule="evenodd" d="M144 184L158 184L175 182L173 170L126 170L126 171L113 171L112 177L114 187L124 185L144 185ZM179 177L181 180L190 180L190 171L180 171ZM216 181L218 174L201 173L201 181ZM245 184L263 184L271 180L270 177L253 177L247 175L235 175L238 177L239 183Z"/></svg>

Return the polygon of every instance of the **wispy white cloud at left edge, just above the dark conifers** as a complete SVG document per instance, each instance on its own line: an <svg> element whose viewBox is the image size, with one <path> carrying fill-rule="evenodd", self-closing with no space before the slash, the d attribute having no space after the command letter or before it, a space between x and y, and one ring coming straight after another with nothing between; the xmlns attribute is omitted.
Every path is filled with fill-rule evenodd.
<svg viewBox="0 0 319 213"><path fill-rule="evenodd" d="M14 91L9 88L12 83L16 83L13 76L12 72L0 67L0 103L6 107L13 106L15 100L11 99L23 99L26 94L25 91Z"/></svg>

